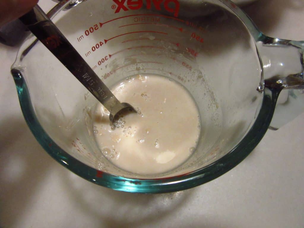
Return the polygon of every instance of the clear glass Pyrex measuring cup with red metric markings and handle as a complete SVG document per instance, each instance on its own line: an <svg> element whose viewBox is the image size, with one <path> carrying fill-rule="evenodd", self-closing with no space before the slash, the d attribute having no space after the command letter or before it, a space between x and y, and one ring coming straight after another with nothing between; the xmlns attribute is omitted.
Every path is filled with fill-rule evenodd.
<svg viewBox="0 0 304 228"><path fill-rule="evenodd" d="M198 7L201 16L192 18ZM121 170L94 142L96 100L41 43L28 48L29 37L12 67L25 119L52 157L99 185L170 192L212 180L261 140L281 89L303 86L303 43L264 36L229 1L90 0L56 13L54 22L109 87L160 74L184 85L200 111L201 139L184 164L157 175Z"/></svg>

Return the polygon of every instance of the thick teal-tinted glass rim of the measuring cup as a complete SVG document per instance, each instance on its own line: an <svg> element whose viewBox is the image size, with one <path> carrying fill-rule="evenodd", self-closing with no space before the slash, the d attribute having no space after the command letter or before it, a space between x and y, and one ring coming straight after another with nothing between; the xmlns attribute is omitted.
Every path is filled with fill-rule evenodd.
<svg viewBox="0 0 304 228"><path fill-rule="evenodd" d="M236 7L229 0L219 0L230 8L239 16L249 29L251 35L256 41L264 39L264 35L258 31L256 26L246 16L246 14ZM71 1L66 2L65 5ZM60 3L59 3L60 4ZM62 9L63 7L60 7ZM263 69L263 68L261 68ZM211 181L222 174L226 173L237 164L239 164L248 154L257 146L264 134L266 133L273 112L275 109L278 92L264 89L263 102L261 109L249 132L244 136L243 140L238 143L228 154L219 160L209 164L208 166L191 173L158 179L133 179L122 176L112 175L103 171L92 168L62 150L40 125L29 95L26 81L22 76L22 72L18 68L12 68L12 76L14 78L19 102L23 116L33 135L38 142L61 165L74 172L78 176L91 181L95 184L112 188L114 190L137 193L165 193L185 190ZM263 74L263 72L261 72Z"/></svg>

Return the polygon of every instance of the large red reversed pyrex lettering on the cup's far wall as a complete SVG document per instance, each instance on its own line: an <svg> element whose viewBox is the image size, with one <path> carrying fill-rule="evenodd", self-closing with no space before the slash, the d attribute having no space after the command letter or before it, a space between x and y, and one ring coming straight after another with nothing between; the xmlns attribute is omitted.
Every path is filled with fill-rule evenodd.
<svg viewBox="0 0 304 228"><path fill-rule="evenodd" d="M143 7L143 0L113 0L113 2L117 4L115 13L118 13L121 9L128 11L129 9L135 10ZM147 9L151 9L151 6L153 4L155 9L161 10L161 3L163 2L165 10L173 13L174 17L177 17L179 12L178 0L146 0L146 6ZM169 4L171 6L169 6Z"/></svg>

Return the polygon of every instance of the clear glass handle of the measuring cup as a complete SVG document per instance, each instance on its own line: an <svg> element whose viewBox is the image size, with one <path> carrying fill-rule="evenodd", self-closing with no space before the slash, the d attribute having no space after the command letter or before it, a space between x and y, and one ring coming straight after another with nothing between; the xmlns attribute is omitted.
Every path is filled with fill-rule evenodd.
<svg viewBox="0 0 304 228"><path fill-rule="evenodd" d="M277 95L270 129L277 130L304 112L304 41L260 36L263 86Z"/></svg>

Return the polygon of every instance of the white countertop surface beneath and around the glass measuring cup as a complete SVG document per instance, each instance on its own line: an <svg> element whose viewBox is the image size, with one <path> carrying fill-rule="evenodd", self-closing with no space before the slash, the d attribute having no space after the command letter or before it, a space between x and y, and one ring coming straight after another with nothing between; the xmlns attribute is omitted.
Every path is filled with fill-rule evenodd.
<svg viewBox="0 0 304 228"><path fill-rule="evenodd" d="M304 40L301 0L261 0L246 12L269 36ZM71 173L35 140L9 71L16 51L0 44L1 228L304 227L304 114L268 130L244 161L209 183L159 195L116 192Z"/></svg>

